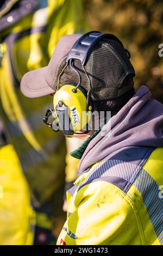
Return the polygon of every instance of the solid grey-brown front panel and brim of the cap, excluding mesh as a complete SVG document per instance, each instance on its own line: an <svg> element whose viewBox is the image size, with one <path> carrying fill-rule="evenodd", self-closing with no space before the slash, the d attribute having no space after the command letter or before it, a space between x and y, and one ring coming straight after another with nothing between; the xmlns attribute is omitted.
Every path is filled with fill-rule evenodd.
<svg viewBox="0 0 163 256"><path fill-rule="evenodd" d="M57 75L60 63L70 52L74 42L81 35L65 35L62 36L48 66L27 72L21 80L21 91L27 97L41 97L55 92L54 80Z"/></svg>

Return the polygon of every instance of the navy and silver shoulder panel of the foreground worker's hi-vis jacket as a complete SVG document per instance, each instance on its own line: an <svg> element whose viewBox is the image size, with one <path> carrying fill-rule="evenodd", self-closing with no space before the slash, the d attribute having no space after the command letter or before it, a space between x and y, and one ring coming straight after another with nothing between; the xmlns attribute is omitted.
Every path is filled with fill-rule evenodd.
<svg viewBox="0 0 163 256"><path fill-rule="evenodd" d="M114 184L127 193L136 175L153 151L155 151L155 148L151 147L126 147L122 149L111 159L95 164L80 185L79 190L86 184L98 179Z"/></svg>

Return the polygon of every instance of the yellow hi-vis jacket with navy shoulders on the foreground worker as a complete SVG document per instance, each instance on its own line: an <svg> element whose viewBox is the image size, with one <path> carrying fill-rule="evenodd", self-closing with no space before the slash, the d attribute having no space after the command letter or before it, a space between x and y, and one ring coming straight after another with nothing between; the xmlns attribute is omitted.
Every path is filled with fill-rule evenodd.
<svg viewBox="0 0 163 256"><path fill-rule="evenodd" d="M83 173L67 192L57 244L161 245L162 154L163 148L126 148Z"/></svg>

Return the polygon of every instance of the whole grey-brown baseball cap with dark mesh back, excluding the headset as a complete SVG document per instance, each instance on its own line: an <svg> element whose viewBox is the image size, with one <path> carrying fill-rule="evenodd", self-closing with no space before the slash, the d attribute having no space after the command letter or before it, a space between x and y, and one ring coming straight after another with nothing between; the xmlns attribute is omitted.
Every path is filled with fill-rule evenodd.
<svg viewBox="0 0 163 256"><path fill-rule="evenodd" d="M74 42L81 35L65 35L60 38L53 56L45 68L29 71L22 77L21 90L27 97L41 97L55 93L64 84L78 84L78 76L66 65L67 55ZM80 86L89 90L80 60L74 60L74 67L82 78ZM62 70L64 69L64 72ZM135 71L128 53L120 42L103 38L93 47L85 65L91 80L90 95L93 101L114 99L133 87ZM62 74L61 74L62 72ZM59 79L59 75L60 79Z"/></svg>

